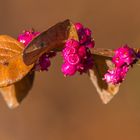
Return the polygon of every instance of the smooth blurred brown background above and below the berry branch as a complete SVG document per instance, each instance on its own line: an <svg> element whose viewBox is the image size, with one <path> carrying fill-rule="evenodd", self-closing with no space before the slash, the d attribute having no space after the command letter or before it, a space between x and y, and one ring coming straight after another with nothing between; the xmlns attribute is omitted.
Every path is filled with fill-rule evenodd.
<svg viewBox="0 0 140 140"><path fill-rule="evenodd" d="M16 37L70 18L93 30L96 47L139 47L139 13L139 0L1 0L0 34ZM64 78L61 57L52 63L49 72L36 74L18 109L0 98L0 140L140 140L140 67L103 105L87 75Z"/></svg>

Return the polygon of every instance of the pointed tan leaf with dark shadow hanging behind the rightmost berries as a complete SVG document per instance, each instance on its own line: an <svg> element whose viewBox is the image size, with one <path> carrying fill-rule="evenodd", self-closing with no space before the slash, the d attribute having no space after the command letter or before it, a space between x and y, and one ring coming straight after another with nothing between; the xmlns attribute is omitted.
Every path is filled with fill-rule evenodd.
<svg viewBox="0 0 140 140"><path fill-rule="evenodd" d="M94 84L99 96L104 104L107 104L119 91L120 85L107 84L104 80L104 74L108 69L114 67L111 58L104 55L93 55L94 66L92 70L89 70L89 76Z"/></svg>

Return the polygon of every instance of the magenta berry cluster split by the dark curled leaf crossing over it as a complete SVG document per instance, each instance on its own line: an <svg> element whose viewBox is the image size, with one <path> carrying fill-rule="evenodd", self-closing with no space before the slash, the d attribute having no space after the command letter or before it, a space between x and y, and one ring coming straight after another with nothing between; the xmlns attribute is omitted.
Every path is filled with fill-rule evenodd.
<svg viewBox="0 0 140 140"><path fill-rule="evenodd" d="M35 32L33 30L31 31L24 31L22 34L20 34L17 38L17 40L25 45L25 47L31 42L33 38L38 36L40 33ZM48 67L51 65L50 59L51 57L55 56L55 52L49 52L48 54L43 54L38 62L36 62L34 69L36 71L44 71L48 70Z"/></svg>

